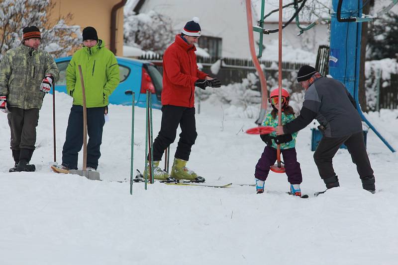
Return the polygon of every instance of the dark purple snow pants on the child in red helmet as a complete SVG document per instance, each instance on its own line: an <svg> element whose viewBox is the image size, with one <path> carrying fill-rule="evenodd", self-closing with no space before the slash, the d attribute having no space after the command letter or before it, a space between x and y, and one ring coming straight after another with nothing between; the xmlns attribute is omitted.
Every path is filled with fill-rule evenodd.
<svg viewBox="0 0 398 265"><path fill-rule="evenodd" d="M285 171L290 184L300 184L302 175L300 163L297 162L296 148L281 149L283 161L285 162ZM266 180L270 172L270 166L277 161L277 150L270 146L265 146L264 152L256 165L254 176L259 180Z"/></svg>

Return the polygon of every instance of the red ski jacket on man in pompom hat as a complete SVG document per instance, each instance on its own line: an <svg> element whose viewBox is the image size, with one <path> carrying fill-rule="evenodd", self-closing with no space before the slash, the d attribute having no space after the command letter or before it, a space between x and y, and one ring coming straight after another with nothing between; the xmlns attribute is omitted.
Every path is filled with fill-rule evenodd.
<svg viewBox="0 0 398 265"><path fill-rule="evenodd" d="M195 45L189 45L180 34L163 56L162 105L193 108L195 82L207 74L199 71Z"/></svg>

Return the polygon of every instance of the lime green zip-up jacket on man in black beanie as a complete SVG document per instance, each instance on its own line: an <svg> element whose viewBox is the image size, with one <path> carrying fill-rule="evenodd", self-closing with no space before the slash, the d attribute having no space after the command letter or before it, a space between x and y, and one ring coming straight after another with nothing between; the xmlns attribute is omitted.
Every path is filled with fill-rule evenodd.
<svg viewBox="0 0 398 265"><path fill-rule="evenodd" d="M79 49L66 68L66 90L73 97L73 105L83 106L82 66L87 108L108 105L108 97L119 84L119 66L116 57L104 47L102 40L96 46Z"/></svg>

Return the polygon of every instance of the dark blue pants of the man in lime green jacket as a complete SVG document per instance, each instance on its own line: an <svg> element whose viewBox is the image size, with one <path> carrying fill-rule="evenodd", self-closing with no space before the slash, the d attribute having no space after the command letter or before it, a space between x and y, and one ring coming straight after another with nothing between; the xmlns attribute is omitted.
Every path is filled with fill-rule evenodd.
<svg viewBox="0 0 398 265"><path fill-rule="evenodd" d="M102 128L105 124L105 107L87 108L87 166L97 169L100 159L100 145L102 142ZM62 149L62 165L69 169L78 168L78 153L83 146L83 107L72 105L69 114L66 139Z"/></svg>

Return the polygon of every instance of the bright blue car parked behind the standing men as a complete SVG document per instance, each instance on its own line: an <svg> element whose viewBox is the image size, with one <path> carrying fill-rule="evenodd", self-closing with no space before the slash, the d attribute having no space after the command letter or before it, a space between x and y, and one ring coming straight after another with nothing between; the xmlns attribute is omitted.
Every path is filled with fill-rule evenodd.
<svg viewBox="0 0 398 265"><path fill-rule="evenodd" d="M66 67L72 57L55 59L60 77L55 90L66 93ZM116 57L119 64L120 83L109 97L110 104L132 105L131 92L135 93L135 106L146 107L146 90L152 92L152 108L161 109L162 74L152 63ZM127 93L126 93L127 92ZM129 94L130 92L130 94Z"/></svg>

